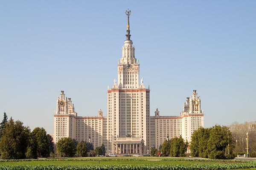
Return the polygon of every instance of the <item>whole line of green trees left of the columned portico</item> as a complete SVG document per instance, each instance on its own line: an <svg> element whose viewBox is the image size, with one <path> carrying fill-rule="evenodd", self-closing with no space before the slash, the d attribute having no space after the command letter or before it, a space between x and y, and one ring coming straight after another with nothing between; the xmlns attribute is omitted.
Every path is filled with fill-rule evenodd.
<svg viewBox="0 0 256 170"><path fill-rule="evenodd" d="M57 143L58 156L105 156L106 148L93 148L90 142L77 142L75 139L62 138ZM35 127L33 131L24 126L19 120L12 117L8 120L3 113L0 123L0 157L1 159L37 159L47 158L54 154L52 136L47 134L43 127Z"/></svg>

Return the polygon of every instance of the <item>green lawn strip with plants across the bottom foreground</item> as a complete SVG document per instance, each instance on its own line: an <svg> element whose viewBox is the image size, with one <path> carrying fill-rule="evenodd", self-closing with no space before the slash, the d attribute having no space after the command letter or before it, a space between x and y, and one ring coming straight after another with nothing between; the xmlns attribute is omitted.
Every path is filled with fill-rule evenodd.
<svg viewBox="0 0 256 170"><path fill-rule="evenodd" d="M0 169L15 170L218 170L249 169L256 170L256 161L186 159L168 157L86 157L74 159L28 159L0 160ZM90 167L90 168L89 168Z"/></svg>

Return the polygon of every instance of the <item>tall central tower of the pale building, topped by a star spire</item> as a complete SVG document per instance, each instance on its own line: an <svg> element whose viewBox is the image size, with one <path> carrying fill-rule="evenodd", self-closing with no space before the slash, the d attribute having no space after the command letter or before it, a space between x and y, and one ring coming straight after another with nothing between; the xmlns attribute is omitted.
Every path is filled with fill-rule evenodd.
<svg viewBox="0 0 256 170"><path fill-rule="evenodd" d="M150 90L140 79L140 64L130 34L131 11L127 15L126 40L117 64L117 82L108 88L108 141L113 153L145 153L150 150Z"/></svg>

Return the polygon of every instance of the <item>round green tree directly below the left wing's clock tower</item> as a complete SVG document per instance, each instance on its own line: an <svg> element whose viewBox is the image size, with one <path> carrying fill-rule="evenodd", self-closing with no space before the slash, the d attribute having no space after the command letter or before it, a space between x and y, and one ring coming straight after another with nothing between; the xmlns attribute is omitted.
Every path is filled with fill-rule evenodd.
<svg viewBox="0 0 256 170"><path fill-rule="evenodd" d="M73 157L76 153L76 147L71 138L61 138L57 143L57 150L60 156Z"/></svg>

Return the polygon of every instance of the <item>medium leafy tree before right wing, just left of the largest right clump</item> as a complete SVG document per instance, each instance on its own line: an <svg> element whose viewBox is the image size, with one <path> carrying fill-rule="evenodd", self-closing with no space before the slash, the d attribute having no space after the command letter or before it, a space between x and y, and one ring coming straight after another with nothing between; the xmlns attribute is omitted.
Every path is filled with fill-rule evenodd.
<svg viewBox="0 0 256 170"><path fill-rule="evenodd" d="M171 148L170 148L170 156L172 157L180 157L186 156L186 150L188 147L188 142L184 142L182 137L175 137L172 139Z"/></svg>

